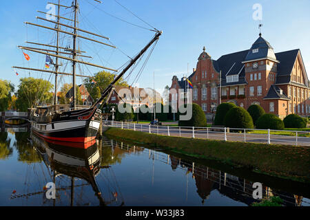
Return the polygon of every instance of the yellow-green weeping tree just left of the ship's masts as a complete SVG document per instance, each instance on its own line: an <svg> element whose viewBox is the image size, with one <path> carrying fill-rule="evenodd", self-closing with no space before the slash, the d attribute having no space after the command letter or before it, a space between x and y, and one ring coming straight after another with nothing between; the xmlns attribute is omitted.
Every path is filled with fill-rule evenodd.
<svg viewBox="0 0 310 220"><path fill-rule="evenodd" d="M21 78L17 90L16 106L19 111L27 111L37 104L44 104L52 101L53 94L50 92L53 85L48 80L32 77Z"/></svg>

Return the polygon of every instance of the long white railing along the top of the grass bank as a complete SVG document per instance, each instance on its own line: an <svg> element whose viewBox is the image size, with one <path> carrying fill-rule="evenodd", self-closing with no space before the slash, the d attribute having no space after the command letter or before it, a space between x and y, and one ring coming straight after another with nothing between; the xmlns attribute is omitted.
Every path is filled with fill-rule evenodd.
<svg viewBox="0 0 310 220"><path fill-rule="evenodd" d="M103 126L130 129L158 135L192 137L234 142L263 144L289 144L310 146L309 131L286 131L271 129L231 129L225 127L156 126L133 122L103 121Z"/></svg>

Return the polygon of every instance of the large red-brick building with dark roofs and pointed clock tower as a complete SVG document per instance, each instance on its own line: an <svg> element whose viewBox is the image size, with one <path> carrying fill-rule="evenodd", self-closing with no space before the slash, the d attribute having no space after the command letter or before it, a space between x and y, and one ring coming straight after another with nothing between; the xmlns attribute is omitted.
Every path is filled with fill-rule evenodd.
<svg viewBox="0 0 310 220"><path fill-rule="evenodd" d="M310 83L300 50L275 53L261 34L249 50L216 61L204 47L189 80L192 100L206 115L214 113L221 102L234 102L245 109L259 104L280 118L290 113L310 115ZM184 82L186 78L173 76L170 89L185 89ZM177 96L171 94L169 102L176 102Z"/></svg>

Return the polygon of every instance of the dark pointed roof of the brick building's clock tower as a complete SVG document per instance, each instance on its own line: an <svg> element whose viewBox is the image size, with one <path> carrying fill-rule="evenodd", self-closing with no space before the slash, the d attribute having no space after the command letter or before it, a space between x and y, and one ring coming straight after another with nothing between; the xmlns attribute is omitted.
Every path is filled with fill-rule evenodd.
<svg viewBox="0 0 310 220"><path fill-rule="evenodd" d="M244 61L253 61L261 58L270 58L276 60L276 55L273 52L273 47L270 43L260 36L251 46Z"/></svg>

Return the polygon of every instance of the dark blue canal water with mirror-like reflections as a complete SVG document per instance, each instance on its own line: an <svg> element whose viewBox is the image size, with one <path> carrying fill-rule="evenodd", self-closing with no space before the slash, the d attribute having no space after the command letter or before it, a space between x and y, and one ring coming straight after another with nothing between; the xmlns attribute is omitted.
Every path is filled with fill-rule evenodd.
<svg viewBox="0 0 310 220"><path fill-rule="evenodd" d="M212 164L107 137L84 150L20 131L0 133L0 206L250 206L258 201L247 174L231 175ZM309 191L298 184L258 180L262 197L279 196L285 206L310 205Z"/></svg>

